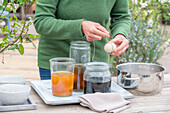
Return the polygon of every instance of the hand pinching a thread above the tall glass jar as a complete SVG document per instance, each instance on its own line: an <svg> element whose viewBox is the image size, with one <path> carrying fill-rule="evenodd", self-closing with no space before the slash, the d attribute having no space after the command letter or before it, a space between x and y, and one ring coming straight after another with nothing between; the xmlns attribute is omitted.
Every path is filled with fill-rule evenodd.
<svg viewBox="0 0 170 113"><path fill-rule="evenodd" d="M101 40L102 37L110 37L109 32L99 23L83 21L81 28L87 41Z"/></svg>

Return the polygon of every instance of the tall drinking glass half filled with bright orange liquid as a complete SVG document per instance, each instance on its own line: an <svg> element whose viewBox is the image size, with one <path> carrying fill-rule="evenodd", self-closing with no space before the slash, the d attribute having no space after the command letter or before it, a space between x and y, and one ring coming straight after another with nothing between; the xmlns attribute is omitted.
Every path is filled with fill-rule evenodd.
<svg viewBox="0 0 170 113"><path fill-rule="evenodd" d="M50 59L52 93L54 96L70 96L74 82L73 58Z"/></svg>

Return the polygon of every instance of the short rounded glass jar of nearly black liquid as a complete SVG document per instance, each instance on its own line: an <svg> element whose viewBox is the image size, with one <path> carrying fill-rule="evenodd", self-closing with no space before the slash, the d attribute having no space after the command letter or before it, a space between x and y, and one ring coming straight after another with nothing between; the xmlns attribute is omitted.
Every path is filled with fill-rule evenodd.
<svg viewBox="0 0 170 113"><path fill-rule="evenodd" d="M109 64L104 62L90 62L84 65L84 94L95 92L111 92L111 73Z"/></svg>

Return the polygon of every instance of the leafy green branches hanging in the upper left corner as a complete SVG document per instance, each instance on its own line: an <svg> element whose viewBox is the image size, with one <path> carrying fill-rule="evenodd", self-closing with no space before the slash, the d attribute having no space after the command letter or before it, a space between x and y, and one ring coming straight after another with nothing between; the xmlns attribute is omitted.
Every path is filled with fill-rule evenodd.
<svg viewBox="0 0 170 113"><path fill-rule="evenodd" d="M23 40L27 40L35 46L35 44L32 42L32 39L35 39L37 36L34 36L32 34L28 34L29 26L32 24L32 18L29 17L29 21L26 21L26 15L29 10L29 8L32 6L33 3L35 3L36 0L9 0L9 3L7 3L7 0L4 0L3 3L0 5L0 10L2 11L0 13L0 19L7 18L6 16L2 16L4 11L9 11L16 13L16 9L24 6L25 8L25 19L19 21L18 18L14 15L13 17L10 17L9 20L14 20L14 23L10 26L11 30L8 29L7 26L0 27L3 38L0 42L0 53L4 52L5 50L14 50L17 49L21 55L24 54L24 47L22 45Z"/></svg>

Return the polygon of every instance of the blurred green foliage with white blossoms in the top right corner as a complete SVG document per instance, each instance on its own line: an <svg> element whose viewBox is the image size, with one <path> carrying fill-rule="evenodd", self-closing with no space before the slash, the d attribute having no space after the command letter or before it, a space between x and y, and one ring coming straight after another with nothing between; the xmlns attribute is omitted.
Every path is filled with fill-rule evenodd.
<svg viewBox="0 0 170 113"><path fill-rule="evenodd" d="M147 19L152 19L155 26L160 21L170 19L170 2L169 0L129 0L130 12L143 14Z"/></svg>

